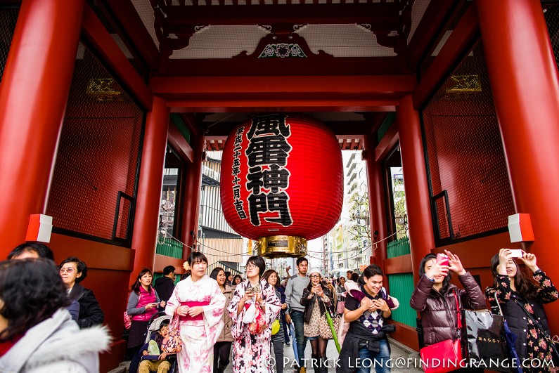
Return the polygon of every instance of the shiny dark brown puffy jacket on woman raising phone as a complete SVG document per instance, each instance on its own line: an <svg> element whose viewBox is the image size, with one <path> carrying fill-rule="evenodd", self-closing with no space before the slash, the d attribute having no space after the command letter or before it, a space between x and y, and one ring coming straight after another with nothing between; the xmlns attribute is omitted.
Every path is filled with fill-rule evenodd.
<svg viewBox="0 0 559 373"><path fill-rule="evenodd" d="M487 308L482 289L469 272L458 276L464 289L448 284L440 292L433 289L434 282L423 276L411 294L411 308L421 314L423 341L425 346L444 341L458 339L456 300L458 296L460 309L480 310Z"/></svg>

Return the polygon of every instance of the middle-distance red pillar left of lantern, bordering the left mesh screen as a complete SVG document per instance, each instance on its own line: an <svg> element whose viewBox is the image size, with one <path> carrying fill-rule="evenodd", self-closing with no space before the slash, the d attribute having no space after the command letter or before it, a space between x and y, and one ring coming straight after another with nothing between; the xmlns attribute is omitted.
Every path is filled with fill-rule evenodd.
<svg viewBox="0 0 559 373"><path fill-rule="evenodd" d="M131 282L136 280L142 268L153 270L168 131L169 108L165 100L154 97L153 107L146 118L143 137L132 234L132 249L136 250L136 256L134 256L134 270L130 274Z"/></svg>

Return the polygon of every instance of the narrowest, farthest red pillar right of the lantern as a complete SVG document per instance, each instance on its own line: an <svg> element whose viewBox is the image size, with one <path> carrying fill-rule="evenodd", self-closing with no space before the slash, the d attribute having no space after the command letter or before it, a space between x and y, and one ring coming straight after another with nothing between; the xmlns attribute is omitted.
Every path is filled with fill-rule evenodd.
<svg viewBox="0 0 559 373"><path fill-rule="evenodd" d="M365 136L365 149L367 154L367 187L368 187L368 209L369 221L371 224L371 243L375 241L375 231L378 232L377 240L383 240L375 249L373 244L373 254L377 266L384 270L383 260L387 257L387 228L385 214L385 190L383 188L383 164L375 161L376 139L374 134ZM387 284L385 284L387 285Z"/></svg>

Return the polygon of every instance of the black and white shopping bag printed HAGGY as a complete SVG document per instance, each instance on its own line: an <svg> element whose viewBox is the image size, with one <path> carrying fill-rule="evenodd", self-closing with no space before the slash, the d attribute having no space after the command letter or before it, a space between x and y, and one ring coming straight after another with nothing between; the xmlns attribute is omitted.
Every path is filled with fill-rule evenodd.
<svg viewBox="0 0 559 373"><path fill-rule="evenodd" d="M499 372L510 372L504 318L489 310L463 310L463 339L469 362Z"/></svg>

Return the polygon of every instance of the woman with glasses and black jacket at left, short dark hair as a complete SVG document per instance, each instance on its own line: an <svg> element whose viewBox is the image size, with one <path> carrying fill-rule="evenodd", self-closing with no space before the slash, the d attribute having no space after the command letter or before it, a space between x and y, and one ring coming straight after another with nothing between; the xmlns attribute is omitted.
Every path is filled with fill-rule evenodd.
<svg viewBox="0 0 559 373"><path fill-rule="evenodd" d="M68 256L60 263L60 277L66 286L68 296L79 303L77 324L80 328L100 325L105 320L105 314L93 292L79 284L86 275L86 264L75 256Z"/></svg>

